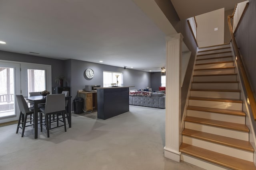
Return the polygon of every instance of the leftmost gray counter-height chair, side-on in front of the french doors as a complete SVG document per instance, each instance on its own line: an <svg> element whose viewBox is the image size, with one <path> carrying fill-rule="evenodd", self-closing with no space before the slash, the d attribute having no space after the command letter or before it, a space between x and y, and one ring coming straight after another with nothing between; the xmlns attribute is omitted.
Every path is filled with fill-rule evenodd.
<svg viewBox="0 0 256 170"><path fill-rule="evenodd" d="M28 104L26 103L26 100L24 99L24 97L22 95L16 94L16 100L17 100L18 106L20 108L20 116L19 116L19 120L18 120L16 133L18 133L19 128L22 129L21 137L23 137L25 127L32 126L32 125L34 126L33 118L32 118L32 120L27 121L28 115L30 115L30 117L32 117L34 110L31 108L28 108ZM30 122L30 125L26 125L27 122ZM31 124L31 122L33 122L33 124ZM22 124L22 126L20 126L20 124Z"/></svg>

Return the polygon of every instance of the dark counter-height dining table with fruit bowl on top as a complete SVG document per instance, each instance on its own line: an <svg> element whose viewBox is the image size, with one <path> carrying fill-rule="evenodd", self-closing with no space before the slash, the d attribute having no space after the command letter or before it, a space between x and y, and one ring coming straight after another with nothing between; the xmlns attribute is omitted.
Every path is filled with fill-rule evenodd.
<svg viewBox="0 0 256 170"><path fill-rule="evenodd" d="M71 98L72 96L66 96L65 100L68 100L68 127L71 127ZM38 104L43 104L46 102L46 97L43 96L24 96L24 99L31 104L34 104L34 138L38 138Z"/></svg>

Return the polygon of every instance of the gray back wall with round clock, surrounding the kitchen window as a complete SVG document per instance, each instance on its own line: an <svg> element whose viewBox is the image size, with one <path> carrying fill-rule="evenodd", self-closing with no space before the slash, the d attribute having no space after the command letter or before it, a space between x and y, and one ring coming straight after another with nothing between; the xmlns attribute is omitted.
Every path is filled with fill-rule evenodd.
<svg viewBox="0 0 256 170"><path fill-rule="evenodd" d="M122 72L124 86L134 86L130 89L150 87L150 72L74 59L66 60L65 65L66 72L68 72L66 75L70 78L72 100L78 96L78 90L82 90L85 85L100 85L103 87L103 71ZM94 77L92 79L84 78L84 70L86 68L92 68L94 70Z"/></svg>

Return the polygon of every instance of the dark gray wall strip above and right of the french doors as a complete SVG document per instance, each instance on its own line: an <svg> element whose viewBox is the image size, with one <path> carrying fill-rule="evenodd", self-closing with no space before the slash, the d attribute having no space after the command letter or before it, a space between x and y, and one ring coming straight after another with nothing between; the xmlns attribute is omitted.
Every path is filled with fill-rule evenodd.
<svg viewBox="0 0 256 170"><path fill-rule="evenodd" d="M7 51L0 51L0 60L51 65L52 87L58 86L58 83L55 83L56 77L65 75L63 60L50 59L46 57L38 57L34 55L26 55L20 53L12 53Z"/></svg>

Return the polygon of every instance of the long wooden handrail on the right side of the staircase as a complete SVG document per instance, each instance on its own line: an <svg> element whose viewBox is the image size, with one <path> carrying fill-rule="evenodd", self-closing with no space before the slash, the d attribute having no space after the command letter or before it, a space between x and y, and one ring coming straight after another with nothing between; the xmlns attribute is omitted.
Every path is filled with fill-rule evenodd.
<svg viewBox="0 0 256 170"><path fill-rule="evenodd" d="M247 4L247 6L248 6L248 4ZM244 8L242 16L244 15L246 9L247 9L247 7ZM232 14L232 16L228 16L228 27L229 27L229 31L230 31L230 35L231 35L231 40L232 40L231 42L232 42L232 45L234 47L234 51L236 53L236 60L237 60L237 63L238 63L238 67L240 68L241 77L242 77L242 80L244 82L244 86L245 86L245 89L246 89L247 100L250 103L252 113L253 113L253 116L254 116L254 121L256 121L256 102L255 102L255 98L254 98L254 95L253 95L253 92L252 92L252 88L251 88L249 80L248 80L248 76L247 76L245 68L244 68L244 64L242 62L242 58L241 58L239 50L238 50L238 46L236 44L236 39L234 37L234 32L233 32L232 25L231 25L231 18L233 18L233 17L234 17L234 13ZM240 20L241 19L242 19L242 17L240 18Z"/></svg>

